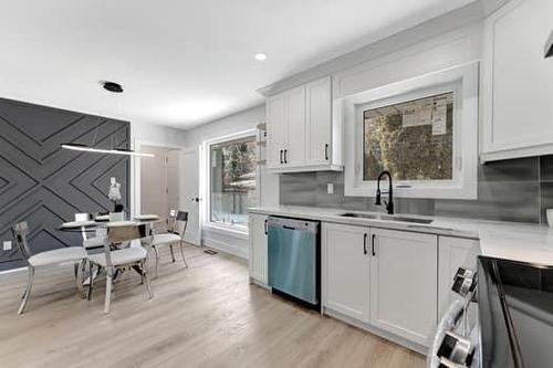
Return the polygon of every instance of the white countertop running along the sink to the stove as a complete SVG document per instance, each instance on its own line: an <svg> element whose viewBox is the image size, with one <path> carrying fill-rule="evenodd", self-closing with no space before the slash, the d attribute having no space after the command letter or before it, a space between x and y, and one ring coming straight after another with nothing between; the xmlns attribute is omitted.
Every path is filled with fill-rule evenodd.
<svg viewBox="0 0 553 368"><path fill-rule="evenodd" d="M276 214L353 225L418 231L438 235L473 238L480 240L482 255L543 265L553 265L553 229L546 225L519 222L482 221L471 219L396 214L399 217L431 219L429 224L395 222L390 220L347 218L346 209L270 206L251 208L251 213Z"/></svg>

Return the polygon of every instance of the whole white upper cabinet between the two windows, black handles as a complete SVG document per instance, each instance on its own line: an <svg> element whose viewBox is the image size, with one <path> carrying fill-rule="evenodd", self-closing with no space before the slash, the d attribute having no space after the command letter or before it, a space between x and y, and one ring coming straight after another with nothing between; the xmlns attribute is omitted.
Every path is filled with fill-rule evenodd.
<svg viewBox="0 0 553 368"><path fill-rule="evenodd" d="M267 129L270 170L342 170L330 76L268 97Z"/></svg>

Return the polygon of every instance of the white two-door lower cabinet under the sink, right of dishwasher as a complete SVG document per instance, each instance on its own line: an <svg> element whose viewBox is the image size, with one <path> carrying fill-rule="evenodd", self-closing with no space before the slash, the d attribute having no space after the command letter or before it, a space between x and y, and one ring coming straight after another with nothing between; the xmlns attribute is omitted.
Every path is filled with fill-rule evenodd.
<svg viewBox="0 0 553 368"><path fill-rule="evenodd" d="M323 224L323 306L428 345L438 322L437 235Z"/></svg>

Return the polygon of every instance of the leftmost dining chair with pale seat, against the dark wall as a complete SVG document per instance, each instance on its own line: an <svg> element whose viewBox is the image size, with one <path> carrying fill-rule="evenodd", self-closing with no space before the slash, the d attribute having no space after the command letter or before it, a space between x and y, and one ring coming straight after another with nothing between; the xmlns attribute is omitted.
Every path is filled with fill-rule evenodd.
<svg viewBox="0 0 553 368"><path fill-rule="evenodd" d="M29 236L29 224L27 221L19 222L15 224L13 231L13 238L15 238L15 242L19 248L19 252L23 257L23 261L27 263L27 269L29 271L29 280L27 283L27 288L22 296L22 302L19 307L18 314L23 314L25 311L29 298L31 297L31 290L34 281L34 269L38 266L44 265L60 265L62 263L73 262L75 264L75 278L77 290L81 290L81 267L79 264L86 259L86 252L82 246L66 246L45 252L40 252L33 254L29 246L28 236Z"/></svg>

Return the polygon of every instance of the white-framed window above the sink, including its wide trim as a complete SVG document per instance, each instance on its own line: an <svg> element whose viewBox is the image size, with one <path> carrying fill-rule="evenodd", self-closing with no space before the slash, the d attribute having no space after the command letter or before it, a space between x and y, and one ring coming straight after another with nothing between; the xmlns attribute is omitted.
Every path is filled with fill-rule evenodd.
<svg viewBox="0 0 553 368"><path fill-rule="evenodd" d="M335 102L344 126L344 193L476 199L478 63L377 86Z"/></svg>

